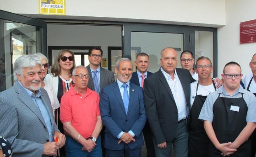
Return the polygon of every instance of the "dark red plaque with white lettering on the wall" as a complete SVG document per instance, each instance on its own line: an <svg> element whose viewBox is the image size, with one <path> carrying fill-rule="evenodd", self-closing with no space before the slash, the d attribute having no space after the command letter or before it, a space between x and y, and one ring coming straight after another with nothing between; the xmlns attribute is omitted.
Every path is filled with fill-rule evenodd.
<svg viewBox="0 0 256 157"><path fill-rule="evenodd" d="M256 42L256 20L240 23L240 44Z"/></svg>

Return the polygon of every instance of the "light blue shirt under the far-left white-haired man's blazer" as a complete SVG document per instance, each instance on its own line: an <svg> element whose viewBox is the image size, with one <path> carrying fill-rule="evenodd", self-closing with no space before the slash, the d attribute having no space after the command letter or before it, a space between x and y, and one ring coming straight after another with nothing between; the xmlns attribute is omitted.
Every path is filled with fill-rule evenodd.
<svg viewBox="0 0 256 157"><path fill-rule="evenodd" d="M18 82L19 84L21 84L20 82ZM22 84L21 84L22 86ZM36 91L36 95L34 95L34 93L30 90L28 90L27 88L25 88L24 86L22 86L25 91L27 92L27 94L32 98L32 100L34 101L34 103L37 105L37 107L39 108L43 120L46 123L46 127L49 133L49 142L53 142L53 127L52 127L52 123L50 120L50 115L47 111L47 108L45 106L45 104L43 104L43 101L41 100L41 91L37 90Z"/></svg>

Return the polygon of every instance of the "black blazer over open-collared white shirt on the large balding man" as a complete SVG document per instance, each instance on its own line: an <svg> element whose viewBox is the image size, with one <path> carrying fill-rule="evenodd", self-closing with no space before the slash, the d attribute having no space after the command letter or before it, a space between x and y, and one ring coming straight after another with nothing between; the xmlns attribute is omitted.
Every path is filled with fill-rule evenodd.
<svg viewBox="0 0 256 157"><path fill-rule="evenodd" d="M190 83L195 80L186 69L176 68L176 71L183 87L187 108L190 111ZM177 133L178 110L161 69L145 79L144 101L149 126L156 144L173 141Z"/></svg>

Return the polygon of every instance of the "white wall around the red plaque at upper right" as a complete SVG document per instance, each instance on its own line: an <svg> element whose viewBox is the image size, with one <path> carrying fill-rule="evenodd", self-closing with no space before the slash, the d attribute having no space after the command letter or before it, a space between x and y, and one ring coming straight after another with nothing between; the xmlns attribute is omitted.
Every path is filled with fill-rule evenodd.
<svg viewBox="0 0 256 157"><path fill-rule="evenodd" d="M256 42L240 44L240 22L256 19L256 0L226 0L226 26L218 28L218 77L227 62L238 62L245 75L256 53Z"/></svg>

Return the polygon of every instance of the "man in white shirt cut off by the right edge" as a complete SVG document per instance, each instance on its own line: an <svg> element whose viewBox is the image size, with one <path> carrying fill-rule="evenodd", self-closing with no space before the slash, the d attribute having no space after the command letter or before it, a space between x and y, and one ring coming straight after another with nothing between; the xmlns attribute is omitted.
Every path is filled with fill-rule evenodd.
<svg viewBox="0 0 256 157"><path fill-rule="evenodd" d="M252 56L251 62L249 63L251 72L242 79L245 89L250 91L256 96L256 53ZM251 135L251 157L255 157L256 153L256 130Z"/></svg>

